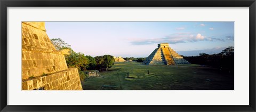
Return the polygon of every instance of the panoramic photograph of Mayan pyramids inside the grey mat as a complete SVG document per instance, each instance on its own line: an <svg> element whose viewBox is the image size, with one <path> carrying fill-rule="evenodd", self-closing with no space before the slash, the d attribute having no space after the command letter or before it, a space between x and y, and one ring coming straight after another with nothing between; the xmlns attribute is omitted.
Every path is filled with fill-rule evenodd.
<svg viewBox="0 0 256 112"><path fill-rule="evenodd" d="M234 22L21 22L21 90L234 90Z"/></svg>

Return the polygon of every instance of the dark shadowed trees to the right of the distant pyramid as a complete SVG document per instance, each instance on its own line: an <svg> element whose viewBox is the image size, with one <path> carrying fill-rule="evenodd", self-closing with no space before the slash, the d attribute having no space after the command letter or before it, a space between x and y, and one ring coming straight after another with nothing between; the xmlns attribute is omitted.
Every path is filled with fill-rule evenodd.
<svg viewBox="0 0 256 112"><path fill-rule="evenodd" d="M199 53L197 56L186 57L182 55L182 57L190 63L215 67L227 74L234 75L235 59L233 46L229 46L217 54Z"/></svg>

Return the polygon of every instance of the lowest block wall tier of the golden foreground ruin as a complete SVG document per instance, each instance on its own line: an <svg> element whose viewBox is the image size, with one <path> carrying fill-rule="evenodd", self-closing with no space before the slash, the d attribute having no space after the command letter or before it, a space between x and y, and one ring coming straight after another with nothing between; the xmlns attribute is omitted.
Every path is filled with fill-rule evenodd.
<svg viewBox="0 0 256 112"><path fill-rule="evenodd" d="M82 86L77 68L71 68L23 81L22 90L82 90Z"/></svg>

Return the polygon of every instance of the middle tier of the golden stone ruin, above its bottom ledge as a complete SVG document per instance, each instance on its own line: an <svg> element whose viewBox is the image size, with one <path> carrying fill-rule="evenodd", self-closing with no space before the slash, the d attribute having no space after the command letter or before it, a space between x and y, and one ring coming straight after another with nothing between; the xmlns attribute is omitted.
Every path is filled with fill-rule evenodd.
<svg viewBox="0 0 256 112"><path fill-rule="evenodd" d="M22 51L22 79L67 69L64 56L45 52Z"/></svg>

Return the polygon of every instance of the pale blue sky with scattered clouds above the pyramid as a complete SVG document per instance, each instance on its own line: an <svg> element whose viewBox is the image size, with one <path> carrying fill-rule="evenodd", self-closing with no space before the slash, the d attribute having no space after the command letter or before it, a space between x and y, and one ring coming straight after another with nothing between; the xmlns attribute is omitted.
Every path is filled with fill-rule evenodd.
<svg viewBox="0 0 256 112"><path fill-rule="evenodd" d="M148 57L159 43L185 56L234 46L234 22L45 22L45 28L49 38L92 57Z"/></svg>

